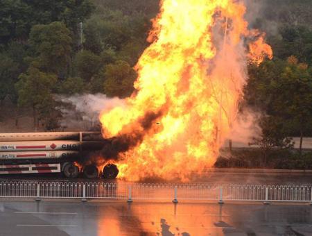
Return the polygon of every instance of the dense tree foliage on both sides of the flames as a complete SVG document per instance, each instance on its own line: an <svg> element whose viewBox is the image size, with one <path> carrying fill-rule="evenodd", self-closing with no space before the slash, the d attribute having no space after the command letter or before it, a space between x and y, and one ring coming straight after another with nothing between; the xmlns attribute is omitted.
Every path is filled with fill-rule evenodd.
<svg viewBox="0 0 312 236"><path fill-rule="evenodd" d="M247 3L250 27L267 33L274 59L248 65L241 107L263 114L258 121L263 132L254 142L270 159L270 149L291 148L287 137L312 135L312 3ZM31 108L35 128L56 130L61 114L53 94L130 96L137 76L132 68L148 46L158 5L158 0L1 1L1 104L10 99L17 110Z"/></svg>

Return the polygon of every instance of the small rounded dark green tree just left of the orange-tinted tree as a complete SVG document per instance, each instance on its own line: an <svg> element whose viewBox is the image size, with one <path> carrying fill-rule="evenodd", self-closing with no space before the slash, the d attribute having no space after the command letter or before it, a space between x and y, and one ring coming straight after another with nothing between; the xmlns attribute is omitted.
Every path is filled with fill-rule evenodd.
<svg viewBox="0 0 312 236"><path fill-rule="evenodd" d="M78 76L84 81L90 81L102 66L101 57L91 51L83 50L76 54L76 69Z"/></svg>

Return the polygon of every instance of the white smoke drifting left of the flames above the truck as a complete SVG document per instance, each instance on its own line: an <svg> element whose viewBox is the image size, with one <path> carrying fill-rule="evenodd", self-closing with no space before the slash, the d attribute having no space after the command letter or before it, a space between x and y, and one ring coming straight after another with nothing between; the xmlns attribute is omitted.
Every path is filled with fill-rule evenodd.
<svg viewBox="0 0 312 236"><path fill-rule="evenodd" d="M60 125L68 130L101 130L99 115L103 110L124 106L124 100L108 98L105 94L58 95L56 101L62 102Z"/></svg>

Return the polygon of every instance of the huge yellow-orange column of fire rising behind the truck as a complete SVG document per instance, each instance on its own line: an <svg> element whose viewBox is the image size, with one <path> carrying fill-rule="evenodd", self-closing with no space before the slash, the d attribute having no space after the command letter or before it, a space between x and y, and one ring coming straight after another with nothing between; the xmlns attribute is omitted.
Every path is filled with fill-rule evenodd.
<svg viewBox="0 0 312 236"><path fill-rule="evenodd" d="M247 61L272 57L244 14L241 1L161 1L135 67L136 92L100 117L105 137L128 143L118 153L119 177L187 181L214 165L236 118Z"/></svg>

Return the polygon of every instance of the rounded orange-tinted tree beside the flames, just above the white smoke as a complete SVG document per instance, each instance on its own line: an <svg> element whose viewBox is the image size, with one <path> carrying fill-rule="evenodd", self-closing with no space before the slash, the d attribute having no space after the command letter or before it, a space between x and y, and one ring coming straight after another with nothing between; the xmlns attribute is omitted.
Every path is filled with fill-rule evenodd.
<svg viewBox="0 0 312 236"><path fill-rule="evenodd" d="M114 64L107 65L104 75L104 92L107 96L123 98L132 94L137 73L127 62L117 60Z"/></svg>

